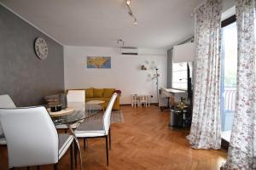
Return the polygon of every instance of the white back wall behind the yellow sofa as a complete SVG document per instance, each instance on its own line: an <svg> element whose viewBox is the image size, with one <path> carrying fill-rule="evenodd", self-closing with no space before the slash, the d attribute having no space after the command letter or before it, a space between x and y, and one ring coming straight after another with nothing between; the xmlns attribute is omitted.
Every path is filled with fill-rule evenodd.
<svg viewBox="0 0 256 170"><path fill-rule="evenodd" d="M111 69L87 69L86 56L111 56ZM131 94L150 94L156 102L156 85L139 70L146 60L154 61L160 72L161 88L166 88L167 54L165 50L140 49L139 55L119 54L119 48L64 46L65 88L117 88L121 104L131 103Z"/></svg>

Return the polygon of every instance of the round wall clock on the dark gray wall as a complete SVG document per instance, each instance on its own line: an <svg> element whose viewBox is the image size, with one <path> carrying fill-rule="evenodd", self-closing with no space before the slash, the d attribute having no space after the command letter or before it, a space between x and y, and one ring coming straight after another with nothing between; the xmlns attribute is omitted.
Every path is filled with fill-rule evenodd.
<svg viewBox="0 0 256 170"><path fill-rule="evenodd" d="M39 59L46 59L48 56L47 43L42 37L38 37L35 41L35 52Z"/></svg>

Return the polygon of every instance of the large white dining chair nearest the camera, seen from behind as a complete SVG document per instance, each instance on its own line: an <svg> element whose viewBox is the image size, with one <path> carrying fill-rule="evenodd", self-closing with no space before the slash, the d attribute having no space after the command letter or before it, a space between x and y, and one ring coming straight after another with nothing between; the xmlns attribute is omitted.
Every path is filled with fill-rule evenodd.
<svg viewBox="0 0 256 170"><path fill-rule="evenodd" d="M7 141L9 168L57 163L70 148L73 169L73 136L59 134L44 106L0 109Z"/></svg>

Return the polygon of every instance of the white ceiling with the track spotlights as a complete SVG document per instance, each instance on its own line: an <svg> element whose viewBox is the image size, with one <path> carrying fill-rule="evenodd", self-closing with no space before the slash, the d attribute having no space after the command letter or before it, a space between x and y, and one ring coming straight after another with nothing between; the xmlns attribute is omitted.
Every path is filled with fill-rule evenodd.
<svg viewBox="0 0 256 170"><path fill-rule="evenodd" d="M204 0L0 0L63 45L168 49L193 35L193 10Z"/></svg>

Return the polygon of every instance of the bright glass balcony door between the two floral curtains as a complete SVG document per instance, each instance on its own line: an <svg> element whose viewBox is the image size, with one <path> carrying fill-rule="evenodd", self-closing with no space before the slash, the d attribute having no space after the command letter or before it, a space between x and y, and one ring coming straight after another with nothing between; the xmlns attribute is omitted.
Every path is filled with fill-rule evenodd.
<svg viewBox="0 0 256 170"><path fill-rule="evenodd" d="M237 31L236 22L222 28L221 58L221 125L222 138L230 141L236 107Z"/></svg>

